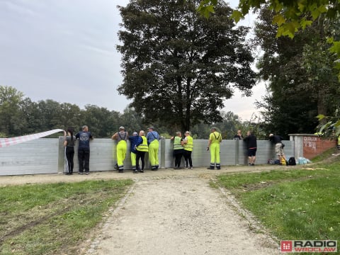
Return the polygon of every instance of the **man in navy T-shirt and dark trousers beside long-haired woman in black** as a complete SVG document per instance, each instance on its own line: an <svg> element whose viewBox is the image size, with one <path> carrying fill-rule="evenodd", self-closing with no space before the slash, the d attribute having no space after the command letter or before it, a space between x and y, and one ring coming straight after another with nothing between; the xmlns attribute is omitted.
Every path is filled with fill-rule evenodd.
<svg viewBox="0 0 340 255"><path fill-rule="evenodd" d="M79 160L79 174L89 174L90 172L90 140L94 137L89 132L89 127L84 125L82 130L76 135L76 139L79 139L78 145L78 160Z"/></svg>

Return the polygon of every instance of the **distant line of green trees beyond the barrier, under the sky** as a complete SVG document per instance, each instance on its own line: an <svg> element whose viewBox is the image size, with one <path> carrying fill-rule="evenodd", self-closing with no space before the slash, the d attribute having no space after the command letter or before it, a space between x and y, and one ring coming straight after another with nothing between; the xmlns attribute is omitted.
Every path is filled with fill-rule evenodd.
<svg viewBox="0 0 340 255"><path fill-rule="evenodd" d="M222 122L215 123L223 133L223 139L234 137L235 130L246 132L246 123L243 125L237 115L221 113ZM88 125L96 138L108 138L118 131L120 126L132 134L133 131L147 130L143 125L140 114L133 108L125 108L123 113L108 111L107 108L86 105L84 109L71 103L59 103L51 99L33 102L24 96L21 91L11 86L0 86L0 138L30 135L56 128L66 130L69 127L77 132L82 125ZM171 137L177 128L153 123L159 134ZM210 125L199 123L191 129L195 138L207 139L210 134ZM50 135L58 137L60 133Z"/></svg>

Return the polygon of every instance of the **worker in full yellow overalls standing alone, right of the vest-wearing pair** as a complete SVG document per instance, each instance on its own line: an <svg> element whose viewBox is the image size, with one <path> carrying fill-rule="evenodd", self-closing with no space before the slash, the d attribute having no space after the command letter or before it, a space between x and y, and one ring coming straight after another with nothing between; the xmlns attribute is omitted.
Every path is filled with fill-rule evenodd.
<svg viewBox="0 0 340 255"><path fill-rule="evenodd" d="M210 136L207 150L210 150L210 166L208 169L221 169L220 164L220 142L222 142L222 135L220 132L217 132L217 128L210 128Z"/></svg>

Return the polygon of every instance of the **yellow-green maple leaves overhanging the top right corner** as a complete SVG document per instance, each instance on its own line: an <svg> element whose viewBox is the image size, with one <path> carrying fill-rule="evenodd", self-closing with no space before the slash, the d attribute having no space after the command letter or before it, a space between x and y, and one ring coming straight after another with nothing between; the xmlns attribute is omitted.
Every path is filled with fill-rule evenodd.
<svg viewBox="0 0 340 255"><path fill-rule="evenodd" d="M320 17L326 17L330 20L338 20L340 16L340 0L304 0L304 1L280 1L280 0L239 0L237 10L232 13L232 18L238 22L253 9L259 10L267 5L268 9L275 11L272 18L273 24L277 25L277 36L287 35L293 38L295 33L300 29L311 26L313 21ZM205 17L209 17L217 6L217 0L202 0L198 11ZM338 69L338 78L340 80L340 41L339 32L337 35L330 36L329 51L337 55L334 67Z"/></svg>

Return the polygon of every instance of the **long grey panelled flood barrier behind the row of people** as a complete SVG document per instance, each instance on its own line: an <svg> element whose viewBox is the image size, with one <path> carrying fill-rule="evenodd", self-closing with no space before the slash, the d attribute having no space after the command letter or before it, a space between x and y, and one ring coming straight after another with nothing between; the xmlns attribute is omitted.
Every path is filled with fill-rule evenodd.
<svg viewBox="0 0 340 255"><path fill-rule="evenodd" d="M64 137L40 138L18 145L0 148L0 175L22 174L57 174L65 170ZM193 166L209 166L210 152L206 151L208 140L193 140ZM294 142L283 141L287 157L293 156ZM256 164L267 164L268 159L276 159L274 147L268 140L257 141ZM79 171L76 143L74 153L74 171ZM90 142L90 171L110 171L116 163L115 141L107 138L94 139ZM159 167L174 166L173 142L169 139L159 141ZM248 164L246 147L243 140L222 140L220 146L221 165ZM149 168L148 154L145 155L146 169ZM182 159L181 166L184 166ZM130 143L124 169L131 169Z"/></svg>

